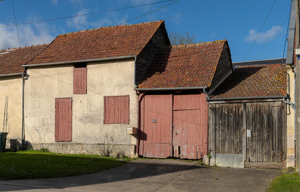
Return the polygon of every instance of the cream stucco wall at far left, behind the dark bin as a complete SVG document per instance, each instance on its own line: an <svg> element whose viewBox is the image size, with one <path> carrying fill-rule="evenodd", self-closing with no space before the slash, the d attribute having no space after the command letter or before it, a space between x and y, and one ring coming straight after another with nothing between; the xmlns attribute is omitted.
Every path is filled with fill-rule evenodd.
<svg viewBox="0 0 300 192"><path fill-rule="evenodd" d="M10 128L7 138L20 139L22 137L22 76L0 77L0 90L0 131L3 131L5 98L8 96L7 112Z"/></svg>

